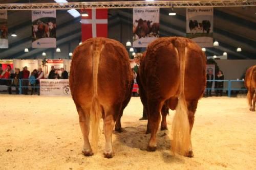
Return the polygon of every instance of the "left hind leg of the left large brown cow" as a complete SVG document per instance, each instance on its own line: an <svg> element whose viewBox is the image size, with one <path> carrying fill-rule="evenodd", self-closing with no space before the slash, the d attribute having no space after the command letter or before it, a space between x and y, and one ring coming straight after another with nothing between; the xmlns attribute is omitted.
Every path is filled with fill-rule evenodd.
<svg viewBox="0 0 256 170"><path fill-rule="evenodd" d="M79 114L79 124L81 127L83 135L83 148L82 153L84 156L92 156L92 148L89 142L89 132L90 132L90 109L86 110L82 107L77 107Z"/></svg>

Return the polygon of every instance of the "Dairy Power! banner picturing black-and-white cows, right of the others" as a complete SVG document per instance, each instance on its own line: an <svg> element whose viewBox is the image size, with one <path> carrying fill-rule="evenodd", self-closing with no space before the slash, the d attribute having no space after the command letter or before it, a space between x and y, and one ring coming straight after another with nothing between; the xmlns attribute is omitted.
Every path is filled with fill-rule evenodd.
<svg viewBox="0 0 256 170"><path fill-rule="evenodd" d="M212 47L214 9L187 8L186 19L187 38L193 39L201 47Z"/></svg>

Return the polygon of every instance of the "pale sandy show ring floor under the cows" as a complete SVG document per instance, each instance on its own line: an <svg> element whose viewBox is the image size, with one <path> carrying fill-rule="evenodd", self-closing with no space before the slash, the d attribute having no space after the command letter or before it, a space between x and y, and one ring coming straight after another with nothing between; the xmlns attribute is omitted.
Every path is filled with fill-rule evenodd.
<svg viewBox="0 0 256 170"><path fill-rule="evenodd" d="M132 98L121 119L124 132L113 134L114 158L103 157L103 134L98 153L84 157L71 97L0 95L0 169L256 169L256 113L245 98L199 101L194 158L173 156L169 131L158 131L156 152L145 151L150 135L141 115L140 99Z"/></svg>

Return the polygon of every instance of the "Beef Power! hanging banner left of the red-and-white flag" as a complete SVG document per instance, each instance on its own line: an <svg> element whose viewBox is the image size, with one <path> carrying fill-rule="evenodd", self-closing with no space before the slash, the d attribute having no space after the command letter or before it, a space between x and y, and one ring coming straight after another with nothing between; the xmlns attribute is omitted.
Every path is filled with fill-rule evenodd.
<svg viewBox="0 0 256 170"><path fill-rule="evenodd" d="M56 10L32 11L32 48L56 48Z"/></svg>

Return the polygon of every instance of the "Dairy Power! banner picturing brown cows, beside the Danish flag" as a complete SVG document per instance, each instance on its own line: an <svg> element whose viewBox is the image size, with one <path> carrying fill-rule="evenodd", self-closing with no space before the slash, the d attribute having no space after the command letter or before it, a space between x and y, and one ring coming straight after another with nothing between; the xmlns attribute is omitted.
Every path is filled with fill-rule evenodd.
<svg viewBox="0 0 256 170"><path fill-rule="evenodd" d="M159 8L133 9L133 47L146 47L159 37Z"/></svg>

